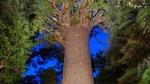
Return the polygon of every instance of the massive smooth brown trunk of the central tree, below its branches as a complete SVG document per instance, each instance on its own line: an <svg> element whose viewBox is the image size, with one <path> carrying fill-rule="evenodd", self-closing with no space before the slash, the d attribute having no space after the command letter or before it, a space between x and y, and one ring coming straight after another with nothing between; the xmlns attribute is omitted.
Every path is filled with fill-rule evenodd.
<svg viewBox="0 0 150 84"><path fill-rule="evenodd" d="M89 56L89 25L68 28L65 36L63 84L94 84Z"/></svg>

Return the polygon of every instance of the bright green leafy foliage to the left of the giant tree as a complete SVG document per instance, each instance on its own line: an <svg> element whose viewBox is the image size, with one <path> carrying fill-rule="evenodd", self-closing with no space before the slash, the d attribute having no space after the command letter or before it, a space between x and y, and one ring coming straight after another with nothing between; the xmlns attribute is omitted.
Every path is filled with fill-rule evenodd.
<svg viewBox="0 0 150 84"><path fill-rule="evenodd" d="M42 28L38 8L31 0L2 0L0 3L0 83L16 84L20 80L33 45L30 39ZM27 5L31 7L27 7Z"/></svg>

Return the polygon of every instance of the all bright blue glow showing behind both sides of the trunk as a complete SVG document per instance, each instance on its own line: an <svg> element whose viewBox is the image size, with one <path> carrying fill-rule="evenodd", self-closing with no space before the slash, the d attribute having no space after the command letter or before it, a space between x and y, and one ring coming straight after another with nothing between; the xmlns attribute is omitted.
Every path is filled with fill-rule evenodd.
<svg viewBox="0 0 150 84"><path fill-rule="evenodd" d="M39 40L43 38L43 33L38 33L34 37L34 40ZM92 60L99 60L101 55L97 55L100 51L105 52L109 48L109 35L104 32L98 26L95 26L91 31L89 37L89 48ZM31 52L33 53L33 57L30 58L30 62L26 65L26 71L22 74L22 77L25 78L24 84L42 84L42 80L40 78L40 74L47 69L54 70L57 74L56 81L57 84L61 84L62 80L62 69L63 62L58 59L58 53L56 53L56 49L61 49L63 51L62 46L59 43L53 44L53 49L49 50L47 58L44 58L40 55L40 51L46 48L48 42L37 44L31 48ZM36 53L36 54L35 54ZM100 74L100 67L103 67L104 64L99 62L99 65L94 67L93 69L93 77L96 78ZM32 80L29 80L31 77ZM37 83L35 83L37 82Z"/></svg>

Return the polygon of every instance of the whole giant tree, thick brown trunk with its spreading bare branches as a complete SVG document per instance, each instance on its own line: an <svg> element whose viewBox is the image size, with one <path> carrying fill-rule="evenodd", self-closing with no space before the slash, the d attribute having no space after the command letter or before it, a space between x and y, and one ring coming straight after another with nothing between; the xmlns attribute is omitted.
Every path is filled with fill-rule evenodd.
<svg viewBox="0 0 150 84"><path fill-rule="evenodd" d="M65 48L62 84L94 84L88 38L101 18L104 0L48 0L53 10L44 30ZM99 4L98 4L99 3ZM98 7L99 5L99 7ZM93 11L96 12L91 13Z"/></svg>

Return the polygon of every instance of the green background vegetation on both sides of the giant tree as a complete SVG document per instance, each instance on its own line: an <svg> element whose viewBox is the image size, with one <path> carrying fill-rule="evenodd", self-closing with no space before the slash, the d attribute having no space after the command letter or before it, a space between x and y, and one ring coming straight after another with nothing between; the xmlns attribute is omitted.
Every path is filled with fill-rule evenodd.
<svg viewBox="0 0 150 84"><path fill-rule="evenodd" d="M103 84L150 84L150 0L95 0L112 29L111 48L99 77ZM43 0L0 1L0 83L16 84L31 37L52 12Z"/></svg>

